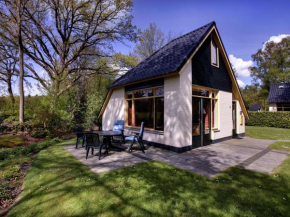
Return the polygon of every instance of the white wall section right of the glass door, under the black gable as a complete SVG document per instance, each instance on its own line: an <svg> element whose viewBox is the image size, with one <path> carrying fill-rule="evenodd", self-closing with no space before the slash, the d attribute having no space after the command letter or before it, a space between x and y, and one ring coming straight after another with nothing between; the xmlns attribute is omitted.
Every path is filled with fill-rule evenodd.
<svg viewBox="0 0 290 217"><path fill-rule="evenodd" d="M213 130L212 140L222 139L232 136L233 120L232 120L232 93L219 91L218 96L218 130Z"/></svg>

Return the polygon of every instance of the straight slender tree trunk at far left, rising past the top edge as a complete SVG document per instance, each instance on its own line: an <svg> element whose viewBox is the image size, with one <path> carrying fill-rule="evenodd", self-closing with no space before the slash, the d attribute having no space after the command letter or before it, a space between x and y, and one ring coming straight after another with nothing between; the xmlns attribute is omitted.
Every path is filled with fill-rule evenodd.
<svg viewBox="0 0 290 217"><path fill-rule="evenodd" d="M23 90L23 44L22 44L22 22L21 22L21 0L18 0L18 52L19 52L19 123L24 123L24 90Z"/></svg>

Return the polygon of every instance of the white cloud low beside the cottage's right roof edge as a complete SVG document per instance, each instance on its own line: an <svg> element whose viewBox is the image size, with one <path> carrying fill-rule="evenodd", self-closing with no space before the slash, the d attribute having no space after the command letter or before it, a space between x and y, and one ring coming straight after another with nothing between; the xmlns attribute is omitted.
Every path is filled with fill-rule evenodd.
<svg viewBox="0 0 290 217"><path fill-rule="evenodd" d="M249 67L254 65L252 60L244 61L243 59L237 58L232 54L229 56L229 59L230 62L233 64L233 68L236 70L238 77L250 77L251 73Z"/></svg>

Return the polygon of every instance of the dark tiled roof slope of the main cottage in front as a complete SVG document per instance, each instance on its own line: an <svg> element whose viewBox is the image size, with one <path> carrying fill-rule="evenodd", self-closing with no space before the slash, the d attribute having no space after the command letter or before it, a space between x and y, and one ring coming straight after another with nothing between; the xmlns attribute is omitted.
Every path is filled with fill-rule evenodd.
<svg viewBox="0 0 290 217"><path fill-rule="evenodd" d="M178 72L214 25L215 22L211 22L172 40L118 78L109 87L117 87L148 78L167 75L172 72Z"/></svg>

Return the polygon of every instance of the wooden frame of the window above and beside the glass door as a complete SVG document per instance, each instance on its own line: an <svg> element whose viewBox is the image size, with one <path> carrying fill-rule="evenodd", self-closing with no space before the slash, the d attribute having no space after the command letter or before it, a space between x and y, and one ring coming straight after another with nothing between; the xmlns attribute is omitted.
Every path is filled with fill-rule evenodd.
<svg viewBox="0 0 290 217"><path fill-rule="evenodd" d="M219 129L219 90L192 85L192 92L193 92L193 89L205 90L205 91L209 92L208 97L207 96L193 95L193 94L192 94L192 97L210 99L211 112L214 111L214 116L212 115L213 113L211 113L211 118L216 117L215 118L216 121L214 122L214 125L213 125L213 119L211 120L211 130L218 130ZM216 93L215 97L212 96L212 93ZM215 109L213 109L214 103L215 103Z"/></svg>

